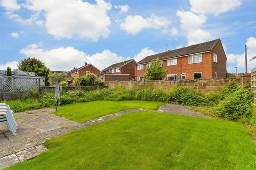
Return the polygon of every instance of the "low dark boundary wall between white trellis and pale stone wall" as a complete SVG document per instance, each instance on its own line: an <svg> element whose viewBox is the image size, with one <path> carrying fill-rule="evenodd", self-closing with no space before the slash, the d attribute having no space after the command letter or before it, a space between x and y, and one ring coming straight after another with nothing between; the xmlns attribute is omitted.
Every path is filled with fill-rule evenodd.
<svg viewBox="0 0 256 170"><path fill-rule="evenodd" d="M69 90L94 90L94 89L103 89L103 88L108 88L108 86L65 86L62 87L63 92L67 92ZM51 92L55 93L55 87L41 87L41 92Z"/></svg>

